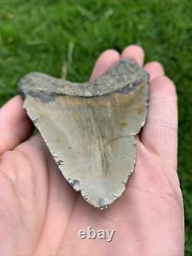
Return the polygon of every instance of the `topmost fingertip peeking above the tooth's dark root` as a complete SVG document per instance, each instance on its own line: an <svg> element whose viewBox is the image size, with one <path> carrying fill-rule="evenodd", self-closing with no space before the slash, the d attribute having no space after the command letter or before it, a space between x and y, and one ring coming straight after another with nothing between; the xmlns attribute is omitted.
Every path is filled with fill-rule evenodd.
<svg viewBox="0 0 192 256"><path fill-rule="evenodd" d="M130 58L142 66L144 64L144 50L138 45L129 45L124 48L121 58Z"/></svg>

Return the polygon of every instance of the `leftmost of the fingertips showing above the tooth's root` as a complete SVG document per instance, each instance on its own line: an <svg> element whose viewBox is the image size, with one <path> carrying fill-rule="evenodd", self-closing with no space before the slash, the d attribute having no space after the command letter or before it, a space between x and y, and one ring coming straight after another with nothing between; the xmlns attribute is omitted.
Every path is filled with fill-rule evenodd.
<svg viewBox="0 0 192 256"><path fill-rule="evenodd" d="M118 62L119 60L120 55L117 51L107 50L103 52L94 65L91 79L97 78L99 75L104 74L109 68L111 68L112 65L114 65L114 63Z"/></svg>

